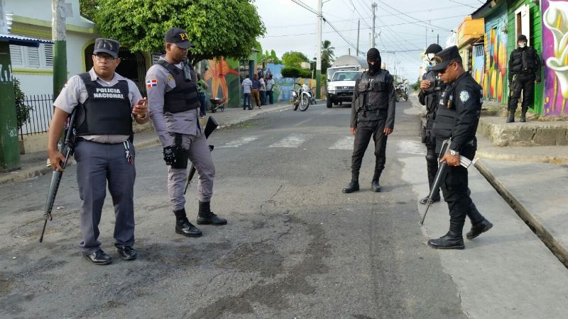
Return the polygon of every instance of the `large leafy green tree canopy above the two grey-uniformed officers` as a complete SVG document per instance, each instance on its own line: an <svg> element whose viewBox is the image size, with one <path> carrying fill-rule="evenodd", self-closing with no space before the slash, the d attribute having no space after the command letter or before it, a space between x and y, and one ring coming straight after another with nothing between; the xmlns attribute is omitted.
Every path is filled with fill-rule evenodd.
<svg viewBox="0 0 568 319"><path fill-rule="evenodd" d="M251 0L98 0L99 32L134 51L163 52L163 35L184 28L192 64L224 56L246 58L266 28Z"/></svg>

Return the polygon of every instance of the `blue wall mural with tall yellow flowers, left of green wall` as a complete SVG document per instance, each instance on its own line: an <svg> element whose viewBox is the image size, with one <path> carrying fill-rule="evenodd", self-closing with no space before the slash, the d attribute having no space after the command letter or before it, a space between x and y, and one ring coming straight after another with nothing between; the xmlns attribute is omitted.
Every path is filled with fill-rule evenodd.
<svg viewBox="0 0 568 319"><path fill-rule="evenodd" d="M484 97L506 103L508 96L507 35L503 33L505 19L486 24L485 33L485 74L482 80Z"/></svg>

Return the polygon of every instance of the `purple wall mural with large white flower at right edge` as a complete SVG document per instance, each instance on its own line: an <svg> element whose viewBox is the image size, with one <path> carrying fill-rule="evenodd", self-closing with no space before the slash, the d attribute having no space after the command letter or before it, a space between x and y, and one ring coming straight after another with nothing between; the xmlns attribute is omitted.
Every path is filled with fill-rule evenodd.
<svg viewBox="0 0 568 319"><path fill-rule="evenodd" d="M542 0L545 116L568 115L568 1Z"/></svg>

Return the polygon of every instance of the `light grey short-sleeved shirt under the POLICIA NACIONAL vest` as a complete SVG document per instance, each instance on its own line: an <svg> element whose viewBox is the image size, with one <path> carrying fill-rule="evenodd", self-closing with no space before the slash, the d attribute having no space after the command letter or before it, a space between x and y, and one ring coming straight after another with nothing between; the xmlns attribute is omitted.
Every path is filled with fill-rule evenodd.
<svg viewBox="0 0 568 319"><path fill-rule="evenodd" d="M136 103L138 103L138 100L142 99L142 95L140 94L136 84L116 72L114 73L114 77L111 82L106 82L99 78L97 73L94 72L94 69L89 70L89 75L91 76L92 81L97 81L97 83L102 86L114 86L118 84L119 81L126 80L126 83L129 84L129 100L131 107L135 106ZM78 75L74 75L69 79L69 81L67 81L67 85L65 85L65 87L61 90L61 93L58 98L55 99L53 105L66 113L72 113L75 106L87 101L88 97L89 94L87 93L87 87L84 86L83 80ZM99 143L121 143L127 140L129 135L84 135L82 138Z"/></svg>

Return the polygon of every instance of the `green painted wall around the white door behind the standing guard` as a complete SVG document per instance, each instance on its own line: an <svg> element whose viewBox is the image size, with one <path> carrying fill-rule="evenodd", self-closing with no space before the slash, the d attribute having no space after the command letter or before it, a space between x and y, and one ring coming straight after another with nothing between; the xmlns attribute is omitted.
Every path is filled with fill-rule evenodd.
<svg viewBox="0 0 568 319"><path fill-rule="evenodd" d="M528 4L529 6L529 20L530 20L530 34L526 36L530 38L530 46L537 50L538 54L542 59L542 17L539 4L535 4L530 0L509 0L507 1L508 10L508 57L510 52L515 50L517 45L517 38L515 33L515 11L519 9L523 4ZM507 62L508 62L507 57ZM541 69L541 77L544 79L544 70ZM535 101L532 107L532 111L541 114L543 113L542 108L542 92L544 91L544 83L535 85Z"/></svg>

